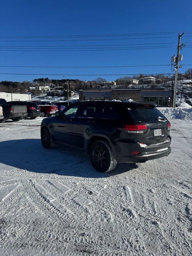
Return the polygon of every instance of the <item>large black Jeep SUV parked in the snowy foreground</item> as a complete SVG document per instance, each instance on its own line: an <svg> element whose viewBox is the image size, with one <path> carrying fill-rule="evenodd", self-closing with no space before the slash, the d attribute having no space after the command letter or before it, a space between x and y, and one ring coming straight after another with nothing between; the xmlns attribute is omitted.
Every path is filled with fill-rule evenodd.
<svg viewBox="0 0 192 256"><path fill-rule="evenodd" d="M117 163L143 163L171 152L170 122L145 102L80 101L41 123L44 148L55 143L84 149L93 167L108 172Z"/></svg>

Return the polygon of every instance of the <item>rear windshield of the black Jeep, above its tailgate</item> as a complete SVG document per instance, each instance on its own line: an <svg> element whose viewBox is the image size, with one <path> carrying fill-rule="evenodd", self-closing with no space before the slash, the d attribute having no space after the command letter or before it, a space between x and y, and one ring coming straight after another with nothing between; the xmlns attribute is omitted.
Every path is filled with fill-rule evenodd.
<svg viewBox="0 0 192 256"><path fill-rule="evenodd" d="M154 122L157 121L159 117L167 120L155 107L129 106L128 110L135 122Z"/></svg>

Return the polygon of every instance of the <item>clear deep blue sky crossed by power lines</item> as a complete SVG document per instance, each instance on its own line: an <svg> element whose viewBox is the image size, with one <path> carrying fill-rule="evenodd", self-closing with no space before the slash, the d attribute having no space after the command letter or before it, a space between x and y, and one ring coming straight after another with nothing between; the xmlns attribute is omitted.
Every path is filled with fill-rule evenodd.
<svg viewBox="0 0 192 256"><path fill-rule="evenodd" d="M191 10L191 0L1 2L0 81L174 74L168 65L182 32L184 73L192 68Z"/></svg>

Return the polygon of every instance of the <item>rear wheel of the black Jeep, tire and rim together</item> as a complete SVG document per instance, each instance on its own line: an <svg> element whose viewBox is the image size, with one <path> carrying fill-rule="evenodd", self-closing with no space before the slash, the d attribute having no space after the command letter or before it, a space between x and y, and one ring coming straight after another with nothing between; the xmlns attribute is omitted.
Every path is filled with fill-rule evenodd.
<svg viewBox="0 0 192 256"><path fill-rule="evenodd" d="M117 161L113 151L106 141L96 141L90 149L90 160L95 170L109 172L115 169Z"/></svg>

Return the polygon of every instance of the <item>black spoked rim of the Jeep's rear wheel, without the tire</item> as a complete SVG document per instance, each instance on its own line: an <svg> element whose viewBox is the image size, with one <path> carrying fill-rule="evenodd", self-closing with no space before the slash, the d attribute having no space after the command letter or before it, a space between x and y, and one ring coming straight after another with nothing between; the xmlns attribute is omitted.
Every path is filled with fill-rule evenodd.
<svg viewBox="0 0 192 256"><path fill-rule="evenodd" d="M104 147L94 147L92 152L92 160L94 165L99 169L103 169L108 165L108 157Z"/></svg>

